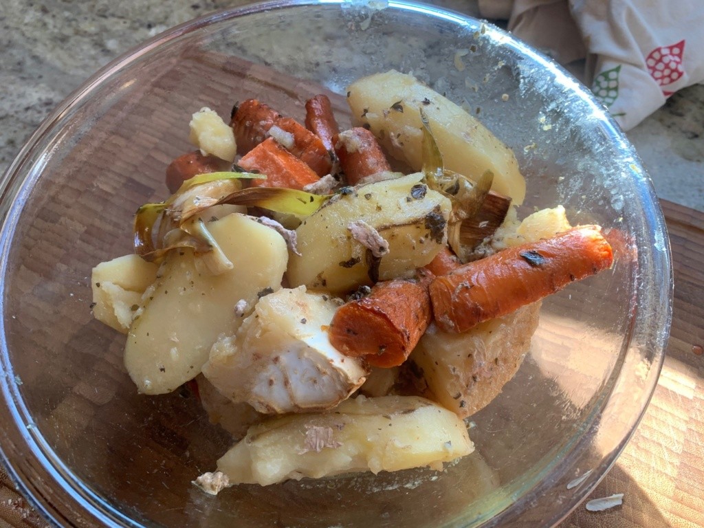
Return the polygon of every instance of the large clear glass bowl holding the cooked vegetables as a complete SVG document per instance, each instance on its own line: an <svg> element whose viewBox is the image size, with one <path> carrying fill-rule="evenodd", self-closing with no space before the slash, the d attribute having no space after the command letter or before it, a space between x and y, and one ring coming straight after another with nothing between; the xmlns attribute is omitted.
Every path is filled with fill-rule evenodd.
<svg viewBox="0 0 704 528"><path fill-rule="evenodd" d="M345 127L346 85L391 68L447 94L513 149L528 184L521 215L563 204L572 223L605 228L615 265L546 299L520 371L468 421L476 451L444 472L207 496L191 480L213 470L227 435L187 391L137 394L122 366L125 337L90 313L91 268L132 251L132 215L166 196L166 165L191 149L191 113L229 115L256 96L302 118L303 101L322 87ZM633 147L553 61L463 15L321 0L194 20L64 101L1 191L1 453L56 525L548 526L614 462L660 372L670 253Z"/></svg>

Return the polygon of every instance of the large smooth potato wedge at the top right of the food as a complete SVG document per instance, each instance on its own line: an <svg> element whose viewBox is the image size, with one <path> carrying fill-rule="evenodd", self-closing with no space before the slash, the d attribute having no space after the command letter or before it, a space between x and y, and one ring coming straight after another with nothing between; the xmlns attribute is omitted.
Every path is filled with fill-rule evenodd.
<svg viewBox="0 0 704 528"><path fill-rule="evenodd" d="M370 126L394 158L413 170L422 167L422 108L445 168L475 181L491 170L492 189L507 194L513 203L522 203L526 185L513 151L481 122L415 77L391 70L364 77L347 90L353 123Z"/></svg>

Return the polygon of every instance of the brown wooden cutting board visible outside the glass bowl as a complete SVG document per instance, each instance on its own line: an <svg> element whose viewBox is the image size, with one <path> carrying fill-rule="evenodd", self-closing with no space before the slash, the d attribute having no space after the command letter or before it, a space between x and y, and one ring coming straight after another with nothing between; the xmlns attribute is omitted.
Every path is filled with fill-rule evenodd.
<svg viewBox="0 0 704 528"><path fill-rule="evenodd" d="M704 527L704 213L661 201L674 262L674 314L658 387L625 451L589 499L624 494L560 528ZM0 469L0 528L47 524Z"/></svg>

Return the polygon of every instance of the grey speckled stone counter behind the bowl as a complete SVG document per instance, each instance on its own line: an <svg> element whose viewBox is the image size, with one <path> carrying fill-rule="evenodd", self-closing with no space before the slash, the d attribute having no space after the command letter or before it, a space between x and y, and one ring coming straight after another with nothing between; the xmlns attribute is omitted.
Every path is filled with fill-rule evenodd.
<svg viewBox="0 0 704 528"><path fill-rule="evenodd" d="M179 23L244 0L4 0L0 172L56 104L111 59ZM476 1L436 0L478 15ZM661 198L704 210L704 85L684 89L628 134Z"/></svg>

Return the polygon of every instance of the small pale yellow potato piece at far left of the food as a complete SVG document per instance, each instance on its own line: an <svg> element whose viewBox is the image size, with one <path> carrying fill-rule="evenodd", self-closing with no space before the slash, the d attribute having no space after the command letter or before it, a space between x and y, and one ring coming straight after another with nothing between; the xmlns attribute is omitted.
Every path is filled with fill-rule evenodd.
<svg viewBox="0 0 704 528"><path fill-rule="evenodd" d="M127 333L144 290L156 280L158 266L137 255L125 255L93 268L93 315L118 332Z"/></svg>

